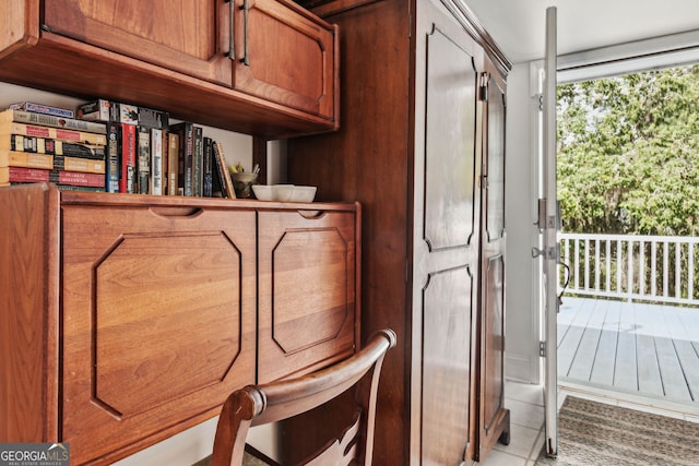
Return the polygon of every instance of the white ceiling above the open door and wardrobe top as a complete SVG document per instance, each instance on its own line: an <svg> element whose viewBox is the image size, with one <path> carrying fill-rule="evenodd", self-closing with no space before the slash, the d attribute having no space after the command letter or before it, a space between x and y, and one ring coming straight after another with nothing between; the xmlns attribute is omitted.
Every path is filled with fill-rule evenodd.
<svg viewBox="0 0 699 466"><path fill-rule="evenodd" d="M463 0L513 63L544 57L556 7L558 55L699 29L697 0Z"/></svg>

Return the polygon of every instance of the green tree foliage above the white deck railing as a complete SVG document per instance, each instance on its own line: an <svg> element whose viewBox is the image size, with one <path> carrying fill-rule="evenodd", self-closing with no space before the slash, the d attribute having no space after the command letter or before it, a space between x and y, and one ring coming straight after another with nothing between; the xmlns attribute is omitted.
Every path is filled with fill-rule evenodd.
<svg viewBox="0 0 699 466"><path fill-rule="evenodd" d="M699 65L558 86L564 231L699 232Z"/></svg>

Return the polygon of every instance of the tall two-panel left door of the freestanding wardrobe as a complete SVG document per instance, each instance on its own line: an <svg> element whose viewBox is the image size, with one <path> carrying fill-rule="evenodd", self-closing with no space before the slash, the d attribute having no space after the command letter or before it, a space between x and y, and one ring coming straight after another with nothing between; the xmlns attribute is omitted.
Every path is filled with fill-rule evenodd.
<svg viewBox="0 0 699 466"><path fill-rule="evenodd" d="M422 354L413 377L422 378L414 395L422 420L413 427L420 441L414 464L472 459L477 433L482 58L452 23L431 2L418 3L413 348Z"/></svg>

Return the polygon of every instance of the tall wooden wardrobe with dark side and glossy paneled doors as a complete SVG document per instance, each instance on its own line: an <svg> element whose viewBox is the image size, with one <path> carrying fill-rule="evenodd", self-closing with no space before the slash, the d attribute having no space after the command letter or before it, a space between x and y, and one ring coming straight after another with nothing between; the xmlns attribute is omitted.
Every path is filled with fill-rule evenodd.
<svg viewBox="0 0 699 466"><path fill-rule="evenodd" d="M483 461L509 435L510 64L460 2L331 1L315 11L343 31L343 129L291 140L288 174L364 206L363 334L391 327L402 348L381 374L374 461Z"/></svg>

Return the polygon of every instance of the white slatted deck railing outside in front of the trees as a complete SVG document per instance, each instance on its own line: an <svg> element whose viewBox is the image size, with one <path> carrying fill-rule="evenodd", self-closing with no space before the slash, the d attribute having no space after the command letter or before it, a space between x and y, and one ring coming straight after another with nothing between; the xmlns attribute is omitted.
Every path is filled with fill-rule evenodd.
<svg viewBox="0 0 699 466"><path fill-rule="evenodd" d="M699 238L559 234L566 292L699 306ZM560 267L559 288L567 277Z"/></svg>

